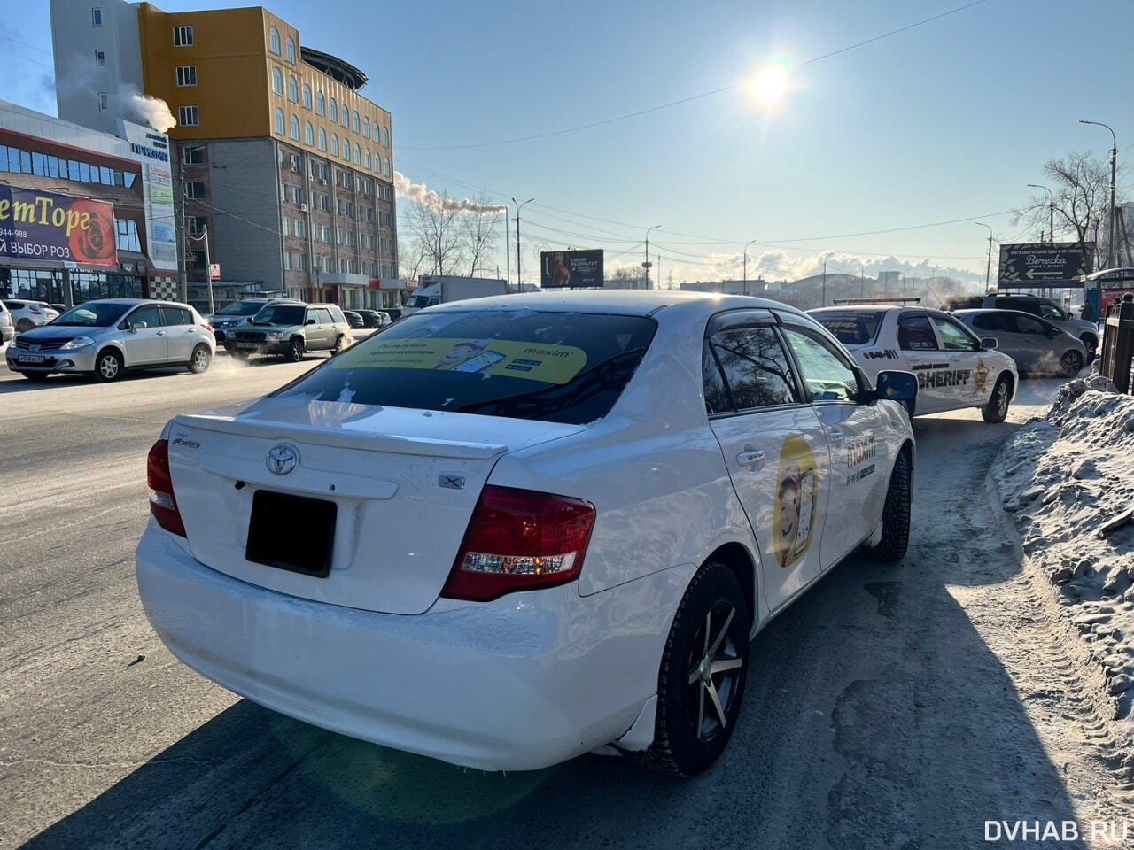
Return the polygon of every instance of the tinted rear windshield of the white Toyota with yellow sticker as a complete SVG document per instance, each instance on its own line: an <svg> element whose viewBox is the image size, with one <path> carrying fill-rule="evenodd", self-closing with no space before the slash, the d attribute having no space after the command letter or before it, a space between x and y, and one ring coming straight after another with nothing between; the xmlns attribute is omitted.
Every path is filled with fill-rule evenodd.
<svg viewBox="0 0 1134 850"><path fill-rule="evenodd" d="M607 415L655 328L591 313L417 313L273 394L582 425Z"/></svg>

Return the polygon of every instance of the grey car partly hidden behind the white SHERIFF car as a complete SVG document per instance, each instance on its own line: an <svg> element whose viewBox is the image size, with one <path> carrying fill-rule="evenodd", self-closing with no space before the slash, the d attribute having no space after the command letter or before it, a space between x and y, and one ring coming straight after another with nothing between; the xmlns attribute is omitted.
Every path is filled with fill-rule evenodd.
<svg viewBox="0 0 1134 850"><path fill-rule="evenodd" d="M997 350L1012 357L1021 372L1074 377L1088 362L1082 340L1031 313L958 309L954 315L978 337L995 339Z"/></svg>

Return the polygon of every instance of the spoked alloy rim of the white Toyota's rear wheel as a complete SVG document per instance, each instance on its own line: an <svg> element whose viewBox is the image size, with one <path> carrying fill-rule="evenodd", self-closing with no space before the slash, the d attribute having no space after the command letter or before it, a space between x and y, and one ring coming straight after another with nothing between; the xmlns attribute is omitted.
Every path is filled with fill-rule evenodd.
<svg viewBox="0 0 1134 850"><path fill-rule="evenodd" d="M744 658L734 634L736 609L719 600L699 626L689 651L686 687L688 721L699 741L710 741L727 729Z"/></svg>

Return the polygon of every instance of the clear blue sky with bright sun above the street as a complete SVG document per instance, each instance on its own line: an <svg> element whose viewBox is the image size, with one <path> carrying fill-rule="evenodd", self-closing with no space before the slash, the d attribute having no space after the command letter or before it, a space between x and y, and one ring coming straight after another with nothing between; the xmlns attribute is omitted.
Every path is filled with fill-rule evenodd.
<svg viewBox="0 0 1134 850"><path fill-rule="evenodd" d="M9 6L0 97L54 114L48 3ZM508 204L511 252L501 238L494 262L513 280L511 199L532 197L525 282L541 249L603 248L608 277L637 266L654 224L662 284L739 279L750 241L750 278L794 280L826 257L828 271L983 281L989 231L976 222L998 243L1038 241L1012 211L1046 202L1026 187L1044 162L1109 158L1110 134L1078 119L1114 128L1119 199L1129 194L1134 0L268 8L370 77L362 93L392 113L407 180ZM787 69L772 104L747 85L770 66Z"/></svg>

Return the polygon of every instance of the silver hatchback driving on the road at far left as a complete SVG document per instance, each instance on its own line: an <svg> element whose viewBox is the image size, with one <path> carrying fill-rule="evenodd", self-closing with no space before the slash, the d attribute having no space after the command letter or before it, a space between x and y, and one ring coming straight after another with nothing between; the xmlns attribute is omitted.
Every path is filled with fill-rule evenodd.
<svg viewBox="0 0 1134 850"><path fill-rule="evenodd" d="M32 380L53 372L88 372L116 381L124 371L180 365L209 368L212 331L188 304L108 298L71 307L50 325L8 346L8 368Z"/></svg>

